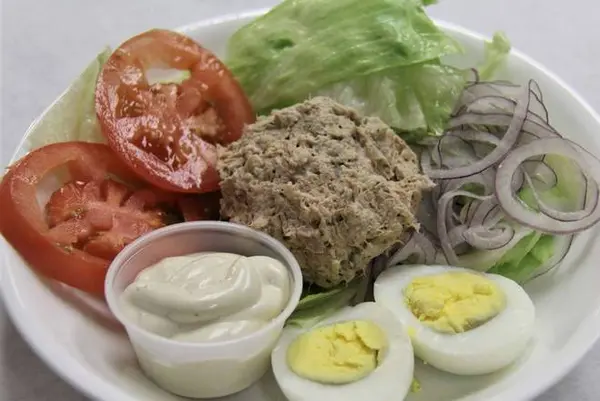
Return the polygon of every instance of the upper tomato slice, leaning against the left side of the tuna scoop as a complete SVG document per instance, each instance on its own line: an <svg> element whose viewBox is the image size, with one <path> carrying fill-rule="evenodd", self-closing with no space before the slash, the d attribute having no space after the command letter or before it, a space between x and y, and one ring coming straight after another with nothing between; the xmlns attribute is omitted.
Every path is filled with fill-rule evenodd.
<svg viewBox="0 0 600 401"><path fill-rule="evenodd" d="M147 79L152 68L189 71L181 84ZM187 36L151 30L123 43L96 85L96 114L109 146L148 182L170 191L218 188L216 144L255 121L223 63Z"/></svg>

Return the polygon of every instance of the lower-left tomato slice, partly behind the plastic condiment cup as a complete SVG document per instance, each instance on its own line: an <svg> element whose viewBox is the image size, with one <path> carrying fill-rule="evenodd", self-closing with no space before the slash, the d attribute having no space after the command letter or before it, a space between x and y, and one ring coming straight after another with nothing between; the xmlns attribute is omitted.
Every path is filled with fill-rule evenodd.
<svg viewBox="0 0 600 401"><path fill-rule="evenodd" d="M71 181L40 206L38 186L61 167L69 170ZM177 208L183 197L139 183L106 145L45 146L12 166L2 180L0 232L39 273L101 295L110 261L124 246L167 224L171 207L184 213ZM186 207L186 217L201 219L201 211L213 206L188 200Z"/></svg>

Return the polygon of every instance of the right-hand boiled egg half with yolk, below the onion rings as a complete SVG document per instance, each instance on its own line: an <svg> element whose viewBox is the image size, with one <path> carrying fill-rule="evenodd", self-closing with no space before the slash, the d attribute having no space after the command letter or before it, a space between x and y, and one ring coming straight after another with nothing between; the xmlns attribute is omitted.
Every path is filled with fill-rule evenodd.
<svg viewBox="0 0 600 401"><path fill-rule="evenodd" d="M379 275L375 301L404 324L415 355L459 375L514 362L534 330L535 308L512 280L449 266L395 266Z"/></svg>

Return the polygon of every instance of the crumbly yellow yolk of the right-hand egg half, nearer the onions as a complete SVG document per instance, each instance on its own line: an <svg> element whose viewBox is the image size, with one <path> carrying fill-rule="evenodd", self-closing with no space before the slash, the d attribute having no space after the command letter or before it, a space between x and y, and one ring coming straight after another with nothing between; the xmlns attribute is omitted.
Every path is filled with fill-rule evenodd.
<svg viewBox="0 0 600 401"><path fill-rule="evenodd" d="M506 306L505 295L496 283L467 272L415 278L405 288L404 299L423 324L447 334L481 326Z"/></svg>

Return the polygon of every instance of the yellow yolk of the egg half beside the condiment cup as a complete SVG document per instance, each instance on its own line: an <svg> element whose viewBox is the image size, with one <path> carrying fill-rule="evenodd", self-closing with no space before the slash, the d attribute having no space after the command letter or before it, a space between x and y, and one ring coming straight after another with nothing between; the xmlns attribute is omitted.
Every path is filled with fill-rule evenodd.
<svg viewBox="0 0 600 401"><path fill-rule="evenodd" d="M345 384L368 376L381 363L387 338L369 321L323 326L299 335L287 350L298 376L326 384Z"/></svg>

